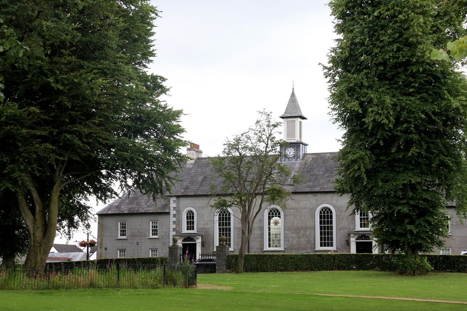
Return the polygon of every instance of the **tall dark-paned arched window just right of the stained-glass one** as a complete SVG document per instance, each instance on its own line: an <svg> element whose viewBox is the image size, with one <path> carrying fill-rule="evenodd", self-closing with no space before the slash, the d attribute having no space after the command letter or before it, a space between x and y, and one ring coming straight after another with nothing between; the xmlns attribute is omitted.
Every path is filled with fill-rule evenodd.
<svg viewBox="0 0 467 311"><path fill-rule="evenodd" d="M336 250L336 210L329 204L316 209L315 239L316 250Z"/></svg>

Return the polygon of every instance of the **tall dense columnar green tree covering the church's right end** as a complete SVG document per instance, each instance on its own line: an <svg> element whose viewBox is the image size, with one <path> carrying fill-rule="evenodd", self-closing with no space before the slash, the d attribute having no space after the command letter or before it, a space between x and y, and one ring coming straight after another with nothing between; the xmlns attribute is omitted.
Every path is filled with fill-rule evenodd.
<svg viewBox="0 0 467 311"><path fill-rule="evenodd" d="M437 2L398 0L382 12L385 0L330 2L340 37L324 69L345 130L336 189L371 212L378 243L405 252L410 274L429 269L418 253L448 234L446 200L466 215L466 79L430 59L432 46L463 29L449 16L440 27Z"/></svg>

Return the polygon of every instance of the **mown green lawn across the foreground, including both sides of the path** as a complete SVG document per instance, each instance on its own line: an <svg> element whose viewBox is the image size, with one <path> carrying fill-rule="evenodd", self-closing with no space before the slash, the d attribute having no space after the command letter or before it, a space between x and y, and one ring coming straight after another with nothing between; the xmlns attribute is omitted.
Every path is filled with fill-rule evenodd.
<svg viewBox="0 0 467 311"><path fill-rule="evenodd" d="M318 296L394 296L467 302L467 274L406 277L386 272L199 275L219 289L0 291L0 310L467 310L467 304Z"/></svg>

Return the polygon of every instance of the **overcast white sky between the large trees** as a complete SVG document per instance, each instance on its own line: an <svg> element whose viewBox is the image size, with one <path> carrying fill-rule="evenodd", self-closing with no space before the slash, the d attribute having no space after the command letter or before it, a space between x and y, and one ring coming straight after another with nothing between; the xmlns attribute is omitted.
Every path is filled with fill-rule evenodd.
<svg viewBox="0 0 467 311"><path fill-rule="evenodd" d="M308 119L308 153L340 149L342 133L330 121L319 65L336 37L327 2L152 0L162 12L149 71L167 78L171 89L162 99L184 111L185 139L199 144L203 156L221 154L226 138L248 129L258 110L266 108L280 121L292 81ZM96 224L91 234L97 236ZM71 241L84 239L77 233Z"/></svg>

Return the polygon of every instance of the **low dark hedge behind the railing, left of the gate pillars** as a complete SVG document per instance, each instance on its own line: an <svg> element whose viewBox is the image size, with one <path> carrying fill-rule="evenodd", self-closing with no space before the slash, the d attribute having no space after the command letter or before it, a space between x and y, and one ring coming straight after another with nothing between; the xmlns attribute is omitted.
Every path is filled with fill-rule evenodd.
<svg viewBox="0 0 467 311"><path fill-rule="evenodd" d="M97 260L81 260L81 261L66 261L66 262L48 262L47 268L90 268L98 266L112 266L116 264L122 265L164 265L168 263L167 257L139 257L139 258L101 258Z"/></svg>

